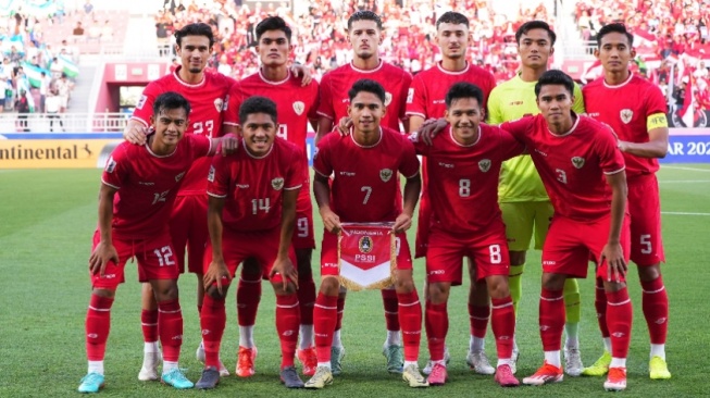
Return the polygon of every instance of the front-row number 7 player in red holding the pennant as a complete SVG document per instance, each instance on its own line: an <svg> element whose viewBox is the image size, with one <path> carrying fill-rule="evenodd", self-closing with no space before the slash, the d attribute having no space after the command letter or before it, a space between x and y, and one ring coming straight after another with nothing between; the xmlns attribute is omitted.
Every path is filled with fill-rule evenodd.
<svg viewBox="0 0 710 398"><path fill-rule="evenodd" d="M307 388L323 388L333 383L331 347L337 323L338 232L342 222L394 222L393 233L400 240L397 254L396 291L399 322L402 325L404 365L402 378L410 387L428 384L419 372L416 360L422 331L422 306L412 279L412 259L407 231L421 189L419 160L414 147L399 132L381 126L386 113L385 89L370 79L358 80L348 92L350 135L331 134L319 142L313 161L313 192L323 226L321 245L321 289L313 309L317 369ZM397 172L407 178L403 208L395 201L399 191ZM328 177L333 175L333 188Z"/></svg>

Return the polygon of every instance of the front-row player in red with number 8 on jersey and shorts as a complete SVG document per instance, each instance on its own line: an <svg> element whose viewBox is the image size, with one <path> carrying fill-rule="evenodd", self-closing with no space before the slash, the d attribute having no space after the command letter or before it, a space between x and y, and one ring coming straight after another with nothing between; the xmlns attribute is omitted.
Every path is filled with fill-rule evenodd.
<svg viewBox="0 0 710 398"><path fill-rule="evenodd" d="M520 384L511 369L515 315L508 289L510 261L497 189L501 163L521 154L525 147L500 128L481 124L483 101L478 87L457 83L446 95L449 126L444 134L432 146L419 141L416 134L410 137L418 153L426 156L432 201L425 316L434 363L429 385L446 383L447 301L451 285L461 284L463 257L472 258L475 264L472 283L487 287L493 300L493 329L498 348L496 381L503 387Z"/></svg>

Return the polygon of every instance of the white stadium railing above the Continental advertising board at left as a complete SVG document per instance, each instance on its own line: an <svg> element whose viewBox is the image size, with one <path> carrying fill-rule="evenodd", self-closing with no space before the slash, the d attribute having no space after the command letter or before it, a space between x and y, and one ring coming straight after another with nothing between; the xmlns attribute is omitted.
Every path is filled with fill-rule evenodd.
<svg viewBox="0 0 710 398"><path fill-rule="evenodd" d="M130 117L130 114L126 113L55 114L59 119L50 119L47 113L25 115L26 119L21 119L18 113L0 114L0 134L22 133L25 129L27 133L121 133Z"/></svg>

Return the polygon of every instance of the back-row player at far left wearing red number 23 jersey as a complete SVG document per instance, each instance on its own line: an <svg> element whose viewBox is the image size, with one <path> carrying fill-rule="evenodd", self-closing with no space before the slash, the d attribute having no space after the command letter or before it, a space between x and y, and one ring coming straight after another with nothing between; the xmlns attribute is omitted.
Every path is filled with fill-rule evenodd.
<svg viewBox="0 0 710 398"><path fill-rule="evenodd" d="M226 97L234 79L221 73L205 73L207 61L212 54L214 37L208 24L194 23L175 33L176 51L182 65L172 74L151 82L144 90L136 105L125 137L130 142L141 144L145 140L144 128L148 125L150 110L155 98L165 91L182 94L190 102L192 114L186 134L219 137L222 127L222 111L225 109ZM177 192L177 199L170 217L170 229L180 272L185 271L185 247L187 245L188 270L198 279L197 308L202 307L204 290L202 287L202 261L204 246L209 234L207 229L207 174L210 160L195 162L185 176L183 186ZM150 285L145 284L142 290L141 324L144 329L145 349L144 365L138 374L141 381L158 377L155 366L160 359L158 349L158 310L152 299ZM197 350L197 357L204 359L202 344ZM221 365L223 375L229 372Z"/></svg>

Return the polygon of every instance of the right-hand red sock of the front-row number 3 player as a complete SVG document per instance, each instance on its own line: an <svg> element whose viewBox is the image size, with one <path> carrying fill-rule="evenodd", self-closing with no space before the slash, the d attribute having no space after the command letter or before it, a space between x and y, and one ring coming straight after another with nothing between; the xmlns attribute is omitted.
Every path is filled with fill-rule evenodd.
<svg viewBox="0 0 710 398"><path fill-rule="evenodd" d="M607 325L611 337L611 357L626 358L631 341L631 324L634 312L625 287L607 293Z"/></svg>

